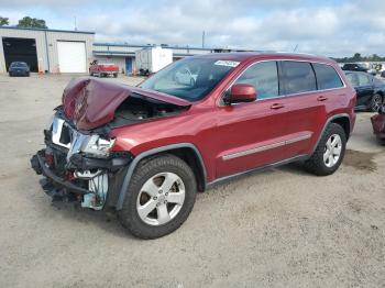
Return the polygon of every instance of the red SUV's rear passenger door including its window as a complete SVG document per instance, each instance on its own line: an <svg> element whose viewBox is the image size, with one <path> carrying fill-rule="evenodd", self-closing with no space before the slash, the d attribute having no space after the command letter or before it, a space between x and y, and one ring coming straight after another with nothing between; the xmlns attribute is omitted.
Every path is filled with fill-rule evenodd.
<svg viewBox="0 0 385 288"><path fill-rule="evenodd" d="M317 89L316 73L308 62L280 63L287 109L286 158L310 153L327 118L327 92Z"/></svg>

